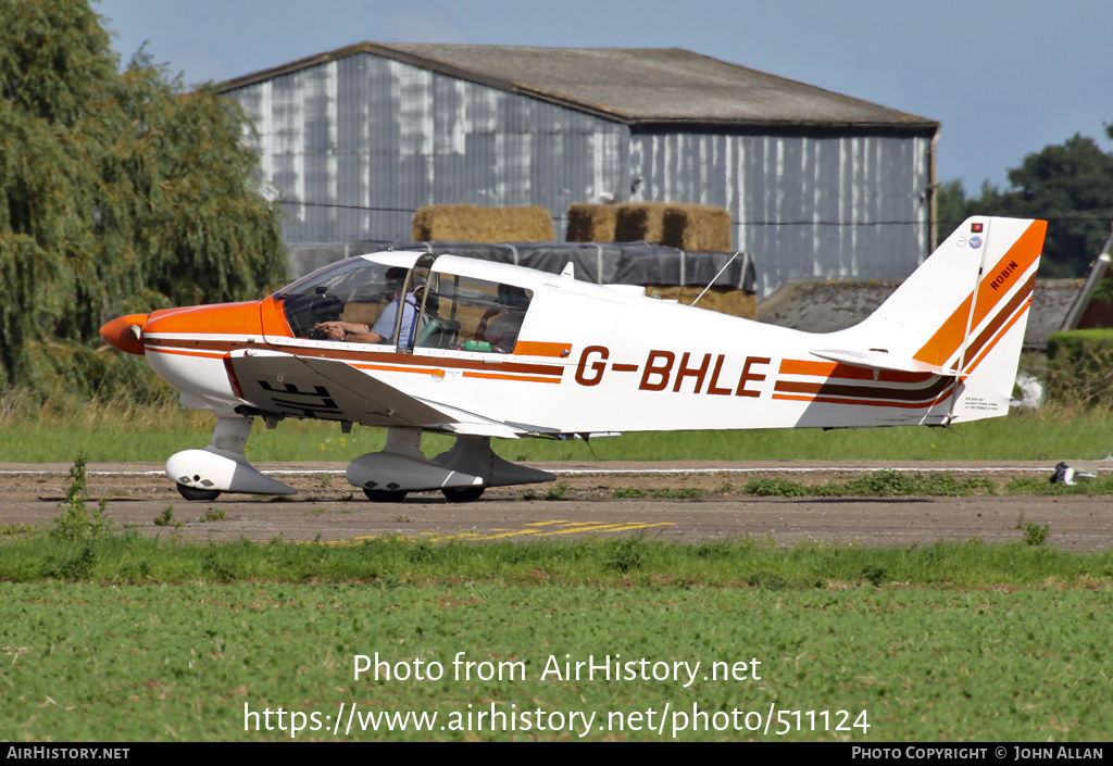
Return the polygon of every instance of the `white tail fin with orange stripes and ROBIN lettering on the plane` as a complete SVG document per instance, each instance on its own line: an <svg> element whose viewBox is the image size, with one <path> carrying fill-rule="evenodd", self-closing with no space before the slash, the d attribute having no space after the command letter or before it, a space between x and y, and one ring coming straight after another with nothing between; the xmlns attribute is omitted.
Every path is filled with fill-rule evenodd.
<svg viewBox="0 0 1113 766"><path fill-rule="evenodd" d="M812 353L957 377L946 422L1005 414L1046 229L1043 220L968 218L871 316L829 336L859 351Z"/></svg>

